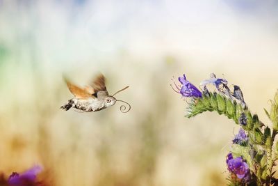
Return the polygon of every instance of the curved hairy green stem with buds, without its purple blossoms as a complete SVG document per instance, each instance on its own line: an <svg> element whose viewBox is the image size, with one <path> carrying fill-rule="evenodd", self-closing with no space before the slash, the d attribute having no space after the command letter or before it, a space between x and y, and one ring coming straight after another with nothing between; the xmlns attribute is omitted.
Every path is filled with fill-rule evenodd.
<svg viewBox="0 0 278 186"><path fill-rule="evenodd" d="M186 117L191 118L204 111L217 111L218 114L224 114L228 118L233 119L236 124L240 124L241 127L248 132L248 136L250 138L248 144L250 146L260 146L265 150L267 154L265 163L260 164L259 167L255 167L252 171L255 173L256 169L262 169L261 172L259 171L256 174L257 180L261 182L261 173L264 172L264 183L269 185L273 166L271 158L272 144L277 131L275 130L272 134L270 134L269 128L268 130L263 130L265 125L259 121L256 114L252 115L249 109L243 108L238 102L230 100L229 98L217 93L209 93L209 95L203 95L202 98L193 99L188 105L188 114ZM243 155L247 162L248 160L251 161L251 157L248 152L240 152L239 154ZM250 167L252 167L252 162L250 163L250 161L249 164Z"/></svg>

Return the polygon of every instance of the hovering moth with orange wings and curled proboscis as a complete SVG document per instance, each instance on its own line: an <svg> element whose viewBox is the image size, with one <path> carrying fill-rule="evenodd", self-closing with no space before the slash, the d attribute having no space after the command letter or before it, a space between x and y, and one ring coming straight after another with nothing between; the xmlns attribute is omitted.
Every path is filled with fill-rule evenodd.
<svg viewBox="0 0 278 186"><path fill-rule="evenodd" d="M114 95L124 91L126 88L129 88L129 86L126 86L113 95L109 95L105 84L106 79L102 74L97 75L90 86L85 86L85 88L72 84L72 82L66 78L65 82L67 83L67 87L70 92L74 95L74 98L68 100L67 104L60 107L60 109L64 109L65 111L70 108L79 109L81 112L100 111L102 109L106 109L107 107L113 106L117 101L124 102L123 100L117 100ZM127 102L124 103L128 105L128 108L126 108L125 105L121 105L120 111L126 113L131 109L131 105Z"/></svg>

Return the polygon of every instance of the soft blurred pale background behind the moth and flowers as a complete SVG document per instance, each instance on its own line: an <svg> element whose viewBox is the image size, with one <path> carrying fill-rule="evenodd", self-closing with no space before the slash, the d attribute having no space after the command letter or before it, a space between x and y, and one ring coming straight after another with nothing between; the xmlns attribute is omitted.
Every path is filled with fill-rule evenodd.
<svg viewBox="0 0 278 186"><path fill-rule="evenodd" d="M49 185L225 185L238 126L185 118L170 88L211 72L243 90L264 123L278 84L278 1L0 0L0 171L42 164ZM59 107L63 75L102 72L120 103L96 113ZM213 91L213 89L211 90Z"/></svg>

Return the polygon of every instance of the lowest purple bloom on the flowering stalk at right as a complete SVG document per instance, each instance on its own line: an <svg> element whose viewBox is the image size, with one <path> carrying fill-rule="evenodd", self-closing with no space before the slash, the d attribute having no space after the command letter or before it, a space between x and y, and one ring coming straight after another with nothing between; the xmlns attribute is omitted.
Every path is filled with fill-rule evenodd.
<svg viewBox="0 0 278 186"><path fill-rule="evenodd" d="M236 157L234 158L231 153L227 155L227 166L228 170L231 173L236 174L236 177L240 180L243 180L245 183L249 180L250 178L250 169L249 166L246 162L243 161L242 157ZM244 178L244 179L243 179Z"/></svg>

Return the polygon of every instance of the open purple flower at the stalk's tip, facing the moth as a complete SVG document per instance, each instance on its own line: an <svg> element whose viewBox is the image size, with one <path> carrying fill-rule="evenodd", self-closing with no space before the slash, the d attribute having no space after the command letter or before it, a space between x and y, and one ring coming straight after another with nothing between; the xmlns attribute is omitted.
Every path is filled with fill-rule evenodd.
<svg viewBox="0 0 278 186"><path fill-rule="evenodd" d="M171 84L171 87L175 92L180 93L183 97L186 98L202 98L201 91L199 91L196 86L188 82L188 80L186 79L186 75L179 77L179 82L181 83L181 85L179 86L176 84L176 82L174 82L174 85L176 86L177 90L175 90Z"/></svg>

